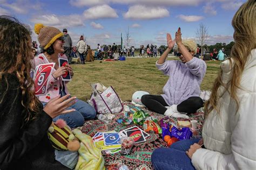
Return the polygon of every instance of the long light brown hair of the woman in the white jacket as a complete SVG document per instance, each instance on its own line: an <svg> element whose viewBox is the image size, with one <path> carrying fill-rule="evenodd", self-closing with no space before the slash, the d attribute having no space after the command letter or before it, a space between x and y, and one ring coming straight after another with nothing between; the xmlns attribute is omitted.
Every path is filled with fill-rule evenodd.
<svg viewBox="0 0 256 170"><path fill-rule="evenodd" d="M239 109L239 101L237 97L237 90L240 88L240 80L244 70L248 56L252 49L256 48L255 39L255 0L249 0L244 3L235 13L232 26L234 28L235 44L231 49L230 62L232 65L231 79L226 84L221 80L222 70L220 70L217 79L212 88L210 100L205 103L205 116L213 110L217 110L220 114L220 106L218 105L219 98L221 98L226 91L237 104ZM224 91L219 88L224 87ZM221 93L221 94L219 94Z"/></svg>

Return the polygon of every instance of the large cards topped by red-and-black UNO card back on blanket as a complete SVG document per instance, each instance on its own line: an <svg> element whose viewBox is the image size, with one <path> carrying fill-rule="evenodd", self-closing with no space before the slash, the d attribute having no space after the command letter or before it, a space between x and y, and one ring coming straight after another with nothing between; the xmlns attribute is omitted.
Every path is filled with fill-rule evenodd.
<svg viewBox="0 0 256 170"><path fill-rule="evenodd" d="M146 141L146 138L150 136L149 133L146 133L138 126L132 126L131 128L122 130L119 132L121 137L132 137L134 144L141 143Z"/></svg>

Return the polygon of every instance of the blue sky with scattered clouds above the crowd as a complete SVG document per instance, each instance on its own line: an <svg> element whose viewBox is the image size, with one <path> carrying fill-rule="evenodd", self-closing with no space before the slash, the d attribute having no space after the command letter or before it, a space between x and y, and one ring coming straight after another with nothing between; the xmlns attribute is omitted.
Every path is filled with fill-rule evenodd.
<svg viewBox="0 0 256 170"><path fill-rule="evenodd" d="M73 44L80 35L95 48L99 44L120 44L120 34L129 27L130 45L166 45L181 27L184 39L197 41L196 31L208 28L206 44L233 40L234 13L245 0L0 0L0 15L12 15L33 30L35 23L68 29ZM37 40L33 32L32 39Z"/></svg>

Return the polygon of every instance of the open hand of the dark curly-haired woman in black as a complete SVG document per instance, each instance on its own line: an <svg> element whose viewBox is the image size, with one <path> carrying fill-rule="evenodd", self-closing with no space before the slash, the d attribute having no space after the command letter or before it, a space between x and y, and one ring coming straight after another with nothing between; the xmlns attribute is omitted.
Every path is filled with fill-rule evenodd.
<svg viewBox="0 0 256 170"><path fill-rule="evenodd" d="M52 98L44 107L44 111L48 114L51 118L55 118L60 114L68 114L69 112L75 111L75 109L65 110L69 108L71 105L75 104L75 99L77 97L69 98L70 94L65 95L63 97Z"/></svg>

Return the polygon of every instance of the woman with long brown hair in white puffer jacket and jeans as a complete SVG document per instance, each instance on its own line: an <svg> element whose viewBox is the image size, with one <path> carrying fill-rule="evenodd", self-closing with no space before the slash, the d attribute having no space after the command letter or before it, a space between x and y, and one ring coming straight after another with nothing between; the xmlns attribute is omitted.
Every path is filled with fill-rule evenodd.
<svg viewBox="0 0 256 170"><path fill-rule="evenodd" d="M203 140L154 150L154 169L256 169L255 6L247 1L234 15L235 44L205 104Z"/></svg>

